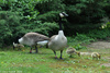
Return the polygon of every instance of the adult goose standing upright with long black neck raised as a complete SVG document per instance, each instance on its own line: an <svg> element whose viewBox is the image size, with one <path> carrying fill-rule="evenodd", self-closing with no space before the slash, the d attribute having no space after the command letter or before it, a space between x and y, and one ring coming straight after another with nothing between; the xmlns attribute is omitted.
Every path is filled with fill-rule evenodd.
<svg viewBox="0 0 110 73"><path fill-rule="evenodd" d="M62 53L63 53L64 48L67 45L67 38L65 37L64 32L62 29L62 19L65 17L65 16L68 16L65 12L59 13L59 23L58 23L59 24L59 31L58 31L58 35L52 36L51 40L48 41L48 48L54 51L56 59L57 59L56 51L61 51L59 59L63 59L62 58Z"/></svg>

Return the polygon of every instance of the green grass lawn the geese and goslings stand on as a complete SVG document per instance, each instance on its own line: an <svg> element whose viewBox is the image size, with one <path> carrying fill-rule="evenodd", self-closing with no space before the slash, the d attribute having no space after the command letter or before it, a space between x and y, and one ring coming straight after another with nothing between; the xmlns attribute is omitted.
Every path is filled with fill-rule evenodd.
<svg viewBox="0 0 110 73"><path fill-rule="evenodd" d="M0 51L0 73L110 73L110 68L100 65L109 63L107 59L110 49L81 49L79 51L101 52L100 60L92 60L90 56L69 56L63 52L64 60L54 59L51 49L38 48L38 53L28 53L24 51L3 50ZM57 51L59 57L59 51Z"/></svg>

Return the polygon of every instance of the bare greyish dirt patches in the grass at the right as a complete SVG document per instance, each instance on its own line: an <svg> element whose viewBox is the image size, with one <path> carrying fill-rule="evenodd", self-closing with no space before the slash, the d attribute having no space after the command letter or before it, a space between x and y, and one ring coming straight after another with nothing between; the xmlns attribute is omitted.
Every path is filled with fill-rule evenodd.
<svg viewBox="0 0 110 73"><path fill-rule="evenodd" d="M96 41L96 42L91 42L90 45L87 45L86 46L87 48L90 48L90 49L110 49L110 41ZM80 52L81 54L91 54L92 51L89 50L89 52ZM110 54L110 51L102 51L102 53L109 53ZM102 63L100 65L105 65L105 66L110 66L110 56L109 57L106 57L106 58L102 58L102 59L108 59L109 63Z"/></svg>

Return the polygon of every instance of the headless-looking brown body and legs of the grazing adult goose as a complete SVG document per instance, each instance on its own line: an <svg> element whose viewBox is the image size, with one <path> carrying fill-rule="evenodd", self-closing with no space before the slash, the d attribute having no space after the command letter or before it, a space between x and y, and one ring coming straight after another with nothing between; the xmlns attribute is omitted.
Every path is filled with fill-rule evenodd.
<svg viewBox="0 0 110 73"><path fill-rule="evenodd" d="M19 42L20 44L23 44L23 45L28 45L31 47L31 50L30 50L30 53L32 53L32 47L35 46L35 49L36 49L36 52L37 52L37 44L40 45L46 45L47 41L50 40L48 37L42 35L42 34L38 34L38 33L28 33L25 34L23 37L21 37L19 39Z"/></svg>

